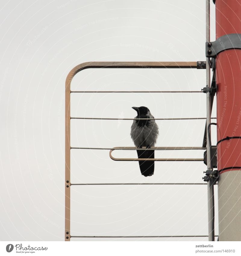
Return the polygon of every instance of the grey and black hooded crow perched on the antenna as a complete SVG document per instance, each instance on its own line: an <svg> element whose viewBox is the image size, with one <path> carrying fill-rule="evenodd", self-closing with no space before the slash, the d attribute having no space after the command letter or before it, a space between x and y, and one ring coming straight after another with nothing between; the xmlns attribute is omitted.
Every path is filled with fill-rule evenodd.
<svg viewBox="0 0 241 256"><path fill-rule="evenodd" d="M154 118L147 107L132 107L137 112L135 119L147 118L147 120L133 120L130 129L130 136L139 149L146 147L147 149L154 147L159 135L159 128ZM155 158L154 150L136 150L138 158ZM154 161L139 161L141 174L145 177L154 174Z"/></svg>

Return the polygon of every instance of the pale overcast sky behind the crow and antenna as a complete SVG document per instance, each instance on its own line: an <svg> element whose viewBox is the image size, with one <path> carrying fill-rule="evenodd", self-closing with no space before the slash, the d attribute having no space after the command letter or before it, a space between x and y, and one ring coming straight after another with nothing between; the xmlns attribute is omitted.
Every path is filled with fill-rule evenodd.
<svg viewBox="0 0 241 256"><path fill-rule="evenodd" d="M205 61L205 1L12 0L2 1L0 17L0 239L62 241L68 72L87 61ZM211 40L215 40L214 19L211 1ZM76 75L71 89L200 90L205 81L205 70L88 69ZM135 117L132 106L147 106L156 118L205 117L205 97L204 93L73 94L71 116L120 120L72 120L71 146L134 146L132 121L121 120ZM215 112L214 106L214 117ZM202 146L205 120L156 122L160 128L156 146ZM215 143L215 132L212 137ZM113 155L136 157L136 152ZM203 151L158 151L155 156L202 158ZM205 169L202 162L156 162L154 175L145 178L137 162L112 161L108 150L71 151L72 183L202 183ZM217 214L215 220L218 234ZM70 233L207 235L207 187L72 186ZM109 240L208 241L205 237Z"/></svg>

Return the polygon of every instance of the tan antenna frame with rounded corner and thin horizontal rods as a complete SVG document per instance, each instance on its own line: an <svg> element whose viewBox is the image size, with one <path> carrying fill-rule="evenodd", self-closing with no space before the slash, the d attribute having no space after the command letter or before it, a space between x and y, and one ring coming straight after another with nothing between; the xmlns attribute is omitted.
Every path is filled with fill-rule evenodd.
<svg viewBox="0 0 241 256"><path fill-rule="evenodd" d="M114 147L114 148L94 148L94 147L73 147L70 145L70 120L71 119L93 119L93 120L116 120L116 118L98 118L98 117L71 117L70 116L70 93L103 93L102 91L71 91L70 84L73 77L80 71L86 68L206 68L205 62L86 62L73 68L67 76L65 87L65 241L70 241L70 238L85 238L85 237L208 237L208 235L178 235L178 236L71 236L70 235L70 187L73 185L205 185L205 183L71 183L70 182L70 150L91 149L91 150L110 150L110 157L117 161L137 161L138 159L116 159L111 155L113 150L136 150L136 147ZM128 91L132 93L133 91ZM142 91L149 93L150 91ZM157 93L203 93L202 91L155 91ZM106 91L105 93L122 93L122 91ZM155 120L190 120L203 118L155 118ZM215 119L215 118L214 118ZM122 120L134 120L124 118ZM107 121L107 122L108 122ZM155 150L206 150L207 147L154 147ZM140 149L141 150L141 149ZM144 149L143 150L148 150ZM152 159L148 159L152 160ZM203 161L203 158L198 159L155 159L156 161Z"/></svg>

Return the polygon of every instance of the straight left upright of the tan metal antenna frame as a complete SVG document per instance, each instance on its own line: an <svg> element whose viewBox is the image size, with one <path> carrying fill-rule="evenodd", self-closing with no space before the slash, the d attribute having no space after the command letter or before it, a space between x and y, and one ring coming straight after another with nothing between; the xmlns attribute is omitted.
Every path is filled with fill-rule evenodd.
<svg viewBox="0 0 241 256"><path fill-rule="evenodd" d="M70 241L70 82L72 72L65 82L65 241Z"/></svg>

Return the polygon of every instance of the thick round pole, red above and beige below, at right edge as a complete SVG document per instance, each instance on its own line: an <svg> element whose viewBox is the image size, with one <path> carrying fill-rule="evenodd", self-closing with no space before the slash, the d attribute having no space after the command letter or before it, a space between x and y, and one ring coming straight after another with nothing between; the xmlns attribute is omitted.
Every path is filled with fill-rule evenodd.
<svg viewBox="0 0 241 256"><path fill-rule="evenodd" d="M241 0L215 5L216 39L241 34ZM241 241L241 138L235 138L241 136L241 49L217 55L216 81L219 241Z"/></svg>

